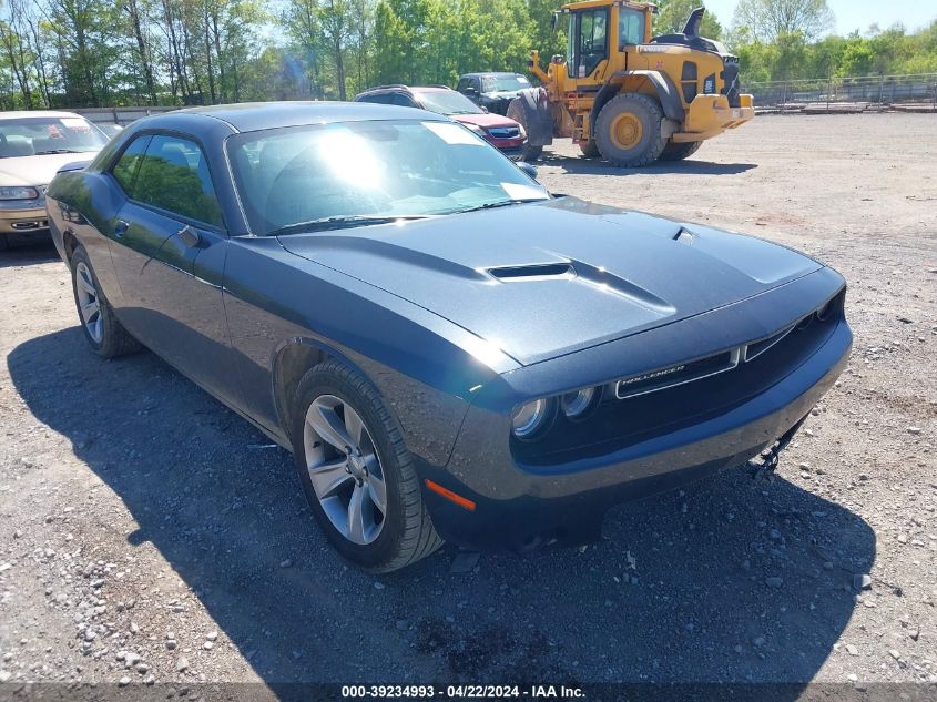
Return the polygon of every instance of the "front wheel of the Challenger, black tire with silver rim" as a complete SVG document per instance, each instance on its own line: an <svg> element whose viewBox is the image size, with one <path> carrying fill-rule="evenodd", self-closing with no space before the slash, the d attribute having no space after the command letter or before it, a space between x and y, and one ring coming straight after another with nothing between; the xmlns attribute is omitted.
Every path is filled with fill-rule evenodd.
<svg viewBox="0 0 937 702"><path fill-rule="evenodd" d="M299 482L316 521L343 557L369 572L390 572L442 546L400 429L364 375L339 362L322 363L303 376L292 409ZM353 437L358 426L363 429ZM336 442L347 445L344 439L349 438L350 451L336 448Z"/></svg>

